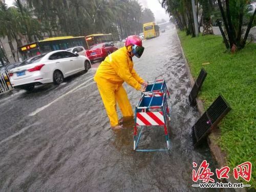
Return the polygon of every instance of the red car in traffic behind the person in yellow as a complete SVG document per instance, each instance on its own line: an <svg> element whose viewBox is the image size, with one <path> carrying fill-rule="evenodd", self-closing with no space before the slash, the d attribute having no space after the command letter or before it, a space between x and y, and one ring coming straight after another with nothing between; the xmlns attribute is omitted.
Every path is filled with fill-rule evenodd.
<svg viewBox="0 0 256 192"><path fill-rule="evenodd" d="M117 48L114 47L110 42L104 42L102 44L97 44L93 46L90 50L86 51L86 56L90 59L91 62L95 60L102 60L109 54L116 51Z"/></svg>

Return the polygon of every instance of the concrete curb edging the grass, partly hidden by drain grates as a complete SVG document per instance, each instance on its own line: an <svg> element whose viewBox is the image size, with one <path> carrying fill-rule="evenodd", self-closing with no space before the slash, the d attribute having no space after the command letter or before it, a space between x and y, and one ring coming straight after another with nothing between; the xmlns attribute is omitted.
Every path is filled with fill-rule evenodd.
<svg viewBox="0 0 256 192"><path fill-rule="evenodd" d="M191 74L187 59L185 57L183 48L181 46L180 37L179 37L178 33L177 33L177 36L178 36L179 43L180 43L182 57L185 61L185 66L186 66L187 74L188 74L188 77L189 77L189 80L190 80L190 84L191 84L191 86L194 86L195 80L194 80L194 78ZM203 101L199 98L197 98L196 101L197 101L197 109L200 113L200 116L202 116L203 113L204 113ZM226 166L227 162L226 162L225 152L223 152L221 150L221 147L217 144L217 140L218 140L219 137L220 137L220 129L219 129L219 127L215 127L214 130L211 130L211 133L207 138L207 142L208 142L208 145L209 145L209 149L210 149L210 153L211 153L212 158L217 162L218 168L221 168L221 167ZM229 179L226 179L225 182L239 183L239 181L234 180L234 178L232 178L232 177L230 177ZM233 191L237 191L237 192L247 191L245 188L232 188L232 189L233 189ZM230 188L223 188L223 190L224 191L230 191Z"/></svg>

